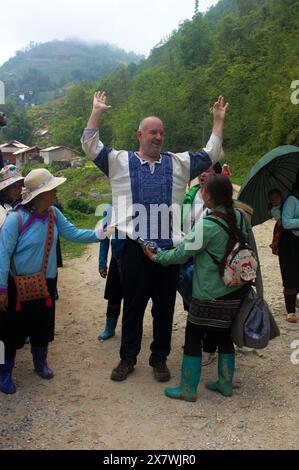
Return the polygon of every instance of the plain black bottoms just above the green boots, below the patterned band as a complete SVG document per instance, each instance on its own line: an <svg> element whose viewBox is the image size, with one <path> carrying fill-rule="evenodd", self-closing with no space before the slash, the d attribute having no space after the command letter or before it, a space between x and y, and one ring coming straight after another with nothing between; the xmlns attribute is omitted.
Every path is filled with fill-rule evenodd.
<svg viewBox="0 0 299 470"><path fill-rule="evenodd" d="M235 348L230 330L207 330L187 321L185 331L184 353L187 356L202 356L203 344L209 345L209 350L221 354L234 354ZM206 349L205 349L206 350Z"/></svg>

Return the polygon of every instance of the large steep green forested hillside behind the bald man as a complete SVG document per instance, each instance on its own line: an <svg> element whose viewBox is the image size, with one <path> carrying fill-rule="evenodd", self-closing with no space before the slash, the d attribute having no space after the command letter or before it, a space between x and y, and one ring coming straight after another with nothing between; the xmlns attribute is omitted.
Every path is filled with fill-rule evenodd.
<svg viewBox="0 0 299 470"><path fill-rule="evenodd" d="M138 122L156 114L165 121L166 149L195 149L206 142L210 107L223 94L230 102L225 158L238 182L268 150L299 144L299 106L291 102L298 32L299 0L222 0L181 23L146 61L79 84L54 108L32 113L38 123L46 112L51 144L80 148L92 94L104 89L112 105L102 128L107 143L135 147Z"/></svg>

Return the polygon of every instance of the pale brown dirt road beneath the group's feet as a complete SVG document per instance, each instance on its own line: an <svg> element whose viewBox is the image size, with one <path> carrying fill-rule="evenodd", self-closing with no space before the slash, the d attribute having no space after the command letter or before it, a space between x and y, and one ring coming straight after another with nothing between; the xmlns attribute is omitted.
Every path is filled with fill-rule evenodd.
<svg viewBox="0 0 299 470"><path fill-rule="evenodd" d="M57 336L50 346L49 382L33 371L29 346L17 355L17 393L0 394L1 449L297 449L299 445L299 365L291 363L291 343L299 324L286 323L278 259L268 245L273 223L255 230L266 299L281 337L262 353L237 354L236 388L224 398L204 388L216 364L203 369L196 403L170 400L148 366L150 306L142 352L123 383L110 380L118 362L120 328L100 343L105 318L104 280L97 273L98 247L60 270ZM185 313L178 297L170 385L180 377Z"/></svg>

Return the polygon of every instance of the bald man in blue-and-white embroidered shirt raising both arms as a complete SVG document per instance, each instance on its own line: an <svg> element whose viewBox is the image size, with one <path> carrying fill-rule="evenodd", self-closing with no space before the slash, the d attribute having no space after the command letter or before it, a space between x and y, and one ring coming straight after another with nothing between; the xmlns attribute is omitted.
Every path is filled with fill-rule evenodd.
<svg viewBox="0 0 299 470"><path fill-rule="evenodd" d="M166 365L171 349L172 321L178 266L163 267L145 257L141 239L158 249L170 249L181 240L180 214L188 181L215 164L221 154L228 103L219 96L213 107L213 130L202 150L162 152L164 125L156 116L140 122L137 151L115 150L99 139L103 114L111 106L105 92L94 95L93 107L81 142L86 155L110 178L115 228L126 238L123 253L124 311L120 362L111 379L125 380L133 372L141 349L143 317L152 299L153 341L149 364L158 382L170 380Z"/></svg>

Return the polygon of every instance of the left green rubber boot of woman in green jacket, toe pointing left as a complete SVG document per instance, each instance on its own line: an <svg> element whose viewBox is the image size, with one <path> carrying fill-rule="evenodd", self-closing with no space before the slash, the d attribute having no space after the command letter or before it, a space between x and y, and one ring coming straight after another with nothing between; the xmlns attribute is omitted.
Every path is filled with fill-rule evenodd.
<svg viewBox="0 0 299 470"><path fill-rule="evenodd" d="M182 362L181 383L176 388L166 388L164 393L169 398L196 401L197 387L201 374L201 357L184 354Z"/></svg>

